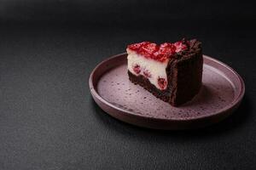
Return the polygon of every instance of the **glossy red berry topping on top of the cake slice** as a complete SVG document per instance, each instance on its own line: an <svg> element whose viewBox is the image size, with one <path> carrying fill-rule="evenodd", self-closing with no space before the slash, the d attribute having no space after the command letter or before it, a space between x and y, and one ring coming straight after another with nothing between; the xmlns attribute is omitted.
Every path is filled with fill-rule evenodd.
<svg viewBox="0 0 256 170"><path fill-rule="evenodd" d="M128 49L141 54L146 58L165 62L171 59L174 54L189 48L189 41L164 42L160 45L154 42L139 42L128 45Z"/></svg>

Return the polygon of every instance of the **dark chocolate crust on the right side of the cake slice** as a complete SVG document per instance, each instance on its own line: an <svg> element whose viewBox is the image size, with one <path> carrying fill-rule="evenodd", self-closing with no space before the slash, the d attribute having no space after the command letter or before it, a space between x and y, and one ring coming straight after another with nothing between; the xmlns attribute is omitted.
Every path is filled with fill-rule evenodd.
<svg viewBox="0 0 256 170"><path fill-rule="evenodd" d="M201 89L203 57L201 42L191 40L191 48L169 61L166 73L171 96L168 103L182 105L193 99Z"/></svg>

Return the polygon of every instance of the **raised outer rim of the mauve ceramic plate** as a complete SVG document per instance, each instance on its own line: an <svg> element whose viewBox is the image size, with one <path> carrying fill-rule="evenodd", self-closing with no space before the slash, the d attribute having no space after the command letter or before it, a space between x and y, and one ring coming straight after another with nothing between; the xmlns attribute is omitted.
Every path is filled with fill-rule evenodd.
<svg viewBox="0 0 256 170"><path fill-rule="evenodd" d="M211 118L211 117L214 117L214 116L219 116L219 115L221 115L222 113L224 113L226 111L230 111L230 110L234 109L235 107L240 105L241 100L242 100L242 98L243 98L243 96L245 94L245 83L244 83L243 79L241 78L241 76L233 68L231 68L229 65L224 64L224 62L219 61L218 59L214 59L214 58L212 58L212 57L210 57L210 56L208 56L206 54L203 54L204 58L206 58L208 60L212 60L213 62L217 63L218 65L224 66L225 68L227 68L229 71L231 71L232 74L234 74L238 78L239 84L240 84L240 86L239 86L240 88L238 90L240 91L240 93L237 95L237 97L235 99L232 100L232 102L230 102L229 105L226 105L221 110L214 111L214 112L212 112L211 114L209 114L207 116L191 117L191 118L188 118L188 119L165 119L165 118L160 118L160 117L150 117L150 116L137 115L137 114L134 114L132 111L126 111L126 110L124 110L122 108L119 108L116 105L111 104L110 102L108 102L108 100L103 99L102 96L97 93L96 87L94 87L94 85L93 85L93 77L95 75L95 72L97 71L97 69L101 65L103 65L106 62L108 62L111 59L118 58L118 57L123 56L125 54L127 54L127 53L115 54L115 55L113 55L111 57L108 57L107 59L102 60L102 62L100 62L98 65L96 65L96 67L90 73L89 87L90 87L90 93L91 93L91 95L92 95L92 97L93 97L93 99L95 101L96 101L96 99L99 99L104 105L108 105L109 107L112 107L114 110L121 111L122 114L125 114L126 116L135 116L135 117L140 117L140 118L143 118L143 119L148 119L148 120L153 120L153 121L165 121L165 122L193 122L193 121L199 121L199 120L208 119L208 118ZM213 67L213 68L215 68L215 67ZM99 104L97 103L97 105L99 105ZM101 105L99 105L99 107L102 108ZM102 110L105 111L104 109L102 109ZM108 113L108 111L105 111L105 112ZM108 113L108 115L113 116L110 113ZM227 116L229 116L229 115L230 114L228 114ZM116 116L114 116L114 117L118 118Z"/></svg>

